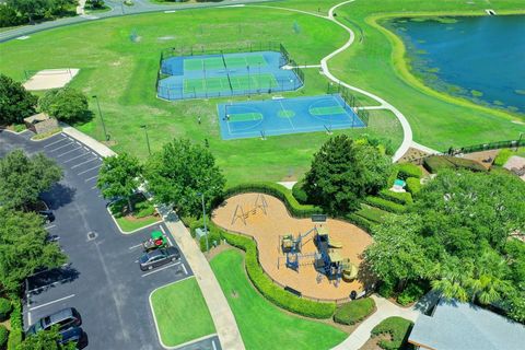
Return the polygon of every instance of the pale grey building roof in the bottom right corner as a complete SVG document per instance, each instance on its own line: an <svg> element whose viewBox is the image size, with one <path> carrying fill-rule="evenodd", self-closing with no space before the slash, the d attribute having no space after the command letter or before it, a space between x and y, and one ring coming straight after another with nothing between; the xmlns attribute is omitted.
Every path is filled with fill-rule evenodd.
<svg viewBox="0 0 525 350"><path fill-rule="evenodd" d="M525 326L479 306L441 301L432 316L419 316L408 340L435 350L524 349Z"/></svg>

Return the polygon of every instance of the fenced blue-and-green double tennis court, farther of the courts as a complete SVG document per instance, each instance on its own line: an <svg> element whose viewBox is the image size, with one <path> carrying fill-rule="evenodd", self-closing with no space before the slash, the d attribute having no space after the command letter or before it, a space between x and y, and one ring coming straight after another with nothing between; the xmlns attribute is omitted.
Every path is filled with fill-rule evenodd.
<svg viewBox="0 0 525 350"><path fill-rule="evenodd" d="M281 52L256 51L161 58L158 95L176 101L298 90L303 81Z"/></svg>

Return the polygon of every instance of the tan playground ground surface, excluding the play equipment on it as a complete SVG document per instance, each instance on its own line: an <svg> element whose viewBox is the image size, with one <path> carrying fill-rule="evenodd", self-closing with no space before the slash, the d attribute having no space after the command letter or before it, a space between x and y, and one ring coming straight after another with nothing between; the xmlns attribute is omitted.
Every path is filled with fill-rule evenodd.
<svg viewBox="0 0 525 350"><path fill-rule="evenodd" d="M258 196L259 194L243 194L229 198L213 212L212 220L223 229L253 236L257 241L260 264L273 280L301 291L303 296L314 299L339 300L348 298L351 291L360 292L362 290L362 283L357 280L345 282L341 279L338 287L325 276L317 281L318 273L314 266L308 264L313 262L308 261L311 259L304 259L305 266L301 266L299 271L285 267L279 236L289 233L293 235L306 233L314 228L315 223L311 219L292 218L284 203L279 199L264 195L268 203L266 214L259 207L255 214L249 213L246 224L242 218L237 218L232 224L237 205L248 212L255 208ZM258 202L260 201L259 197ZM317 224L319 225L319 223ZM328 228L331 241L342 244L341 248L336 249L340 256L350 258L352 264L359 266L361 254L372 243L372 237L358 226L339 220L328 219L323 225ZM317 248L314 244L314 234L311 234L303 240L302 254L313 253L317 253ZM280 259L279 267L278 259Z"/></svg>

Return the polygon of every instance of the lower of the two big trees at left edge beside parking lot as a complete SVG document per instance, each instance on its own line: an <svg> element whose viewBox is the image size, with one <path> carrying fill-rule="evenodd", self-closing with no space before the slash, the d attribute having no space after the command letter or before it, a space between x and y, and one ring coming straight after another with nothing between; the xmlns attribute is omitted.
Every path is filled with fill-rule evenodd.
<svg viewBox="0 0 525 350"><path fill-rule="evenodd" d="M38 268L55 268L66 256L35 213L0 208L0 291L18 292L24 279Z"/></svg>

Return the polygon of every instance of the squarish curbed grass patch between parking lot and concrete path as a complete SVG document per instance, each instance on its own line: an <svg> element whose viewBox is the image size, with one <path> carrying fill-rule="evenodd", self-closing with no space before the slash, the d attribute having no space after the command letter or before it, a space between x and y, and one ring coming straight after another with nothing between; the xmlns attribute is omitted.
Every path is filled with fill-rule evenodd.
<svg viewBox="0 0 525 350"><path fill-rule="evenodd" d="M175 347L215 332L195 278L158 289L150 299L164 346Z"/></svg>

